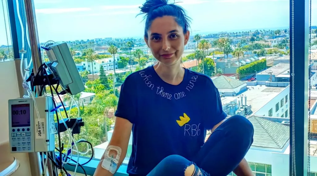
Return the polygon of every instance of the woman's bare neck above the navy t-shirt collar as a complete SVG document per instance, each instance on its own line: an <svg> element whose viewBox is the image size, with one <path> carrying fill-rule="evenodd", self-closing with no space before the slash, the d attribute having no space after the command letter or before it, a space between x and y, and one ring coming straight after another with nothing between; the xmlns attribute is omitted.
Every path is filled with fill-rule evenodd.
<svg viewBox="0 0 317 176"><path fill-rule="evenodd" d="M163 81L171 85L178 85L184 79L185 70L180 64L166 66L161 62L158 62L154 65L154 70Z"/></svg>

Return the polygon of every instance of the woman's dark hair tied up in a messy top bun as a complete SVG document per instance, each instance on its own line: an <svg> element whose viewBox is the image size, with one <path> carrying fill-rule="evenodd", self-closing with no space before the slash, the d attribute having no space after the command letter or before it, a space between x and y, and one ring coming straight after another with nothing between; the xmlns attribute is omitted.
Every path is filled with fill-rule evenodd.
<svg viewBox="0 0 317 176"><path fill-rule="evenodd" d="M146 14L144 19L145 22L145 30L144 35L146 39L148 38L147 31L149 30L152 22L157 17L163 16L174 16L175 21L179 26L183 27L184 34L190 28L189 23L191 22L191 18L186 15L185 10L174 3L168 3L168 0L146 0L141 9L141 14ZM144 20L143 19L143 20Z"/></svg>

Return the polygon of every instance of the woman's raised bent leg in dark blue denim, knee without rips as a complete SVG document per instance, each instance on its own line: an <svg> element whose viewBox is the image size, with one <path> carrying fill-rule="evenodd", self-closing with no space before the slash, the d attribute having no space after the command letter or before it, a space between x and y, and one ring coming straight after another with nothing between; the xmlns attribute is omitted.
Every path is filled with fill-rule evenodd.
<svg viewBox="0 0 317 176"><path fill-rule="evenodd" d="M232 116L210 135L193 162L210 176L226 176L244 158L253 142L253 133L247 118Z"/></svg>

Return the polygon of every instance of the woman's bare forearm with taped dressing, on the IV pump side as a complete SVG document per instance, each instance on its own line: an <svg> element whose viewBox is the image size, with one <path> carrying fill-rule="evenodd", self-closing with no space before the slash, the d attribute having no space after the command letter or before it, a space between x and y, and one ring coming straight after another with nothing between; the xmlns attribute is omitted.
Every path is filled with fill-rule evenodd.
<svg viewBox="0 0 317 176"><path fill-rule="evenodd" d="M113 134L109 142L109 146L117 146L121 148L121 156L119 159L118 167L121 166L122 161L126 157L126 150L128 148L128 143L131 135L132 123L128 120L120 117L116 117L116 122L114 124ZM113 154L114 158L116 157L115 151L110 151L109 155ZM102 161L104 159L104 154L102 155L100 162L96 168L94 176L113 176L112 173L101 167Z"/></svg>

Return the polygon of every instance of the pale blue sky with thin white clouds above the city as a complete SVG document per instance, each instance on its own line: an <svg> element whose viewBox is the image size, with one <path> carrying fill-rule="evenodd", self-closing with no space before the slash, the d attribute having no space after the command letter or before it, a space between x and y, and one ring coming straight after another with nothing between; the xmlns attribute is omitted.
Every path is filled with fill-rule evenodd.
<svg viewBox="0 0 317 176"><path fill-rule="evenodd" d="M136 15L144 2L145 0L34 0L39 41L141 38L144 35L143 16ZM193 35L289 27L289 0L176 2L192 18ZM317 3L312 7L312 24L317 25L317 22L314 24ZM7 43L5 34L0 4L0 46Z"/></svg>

